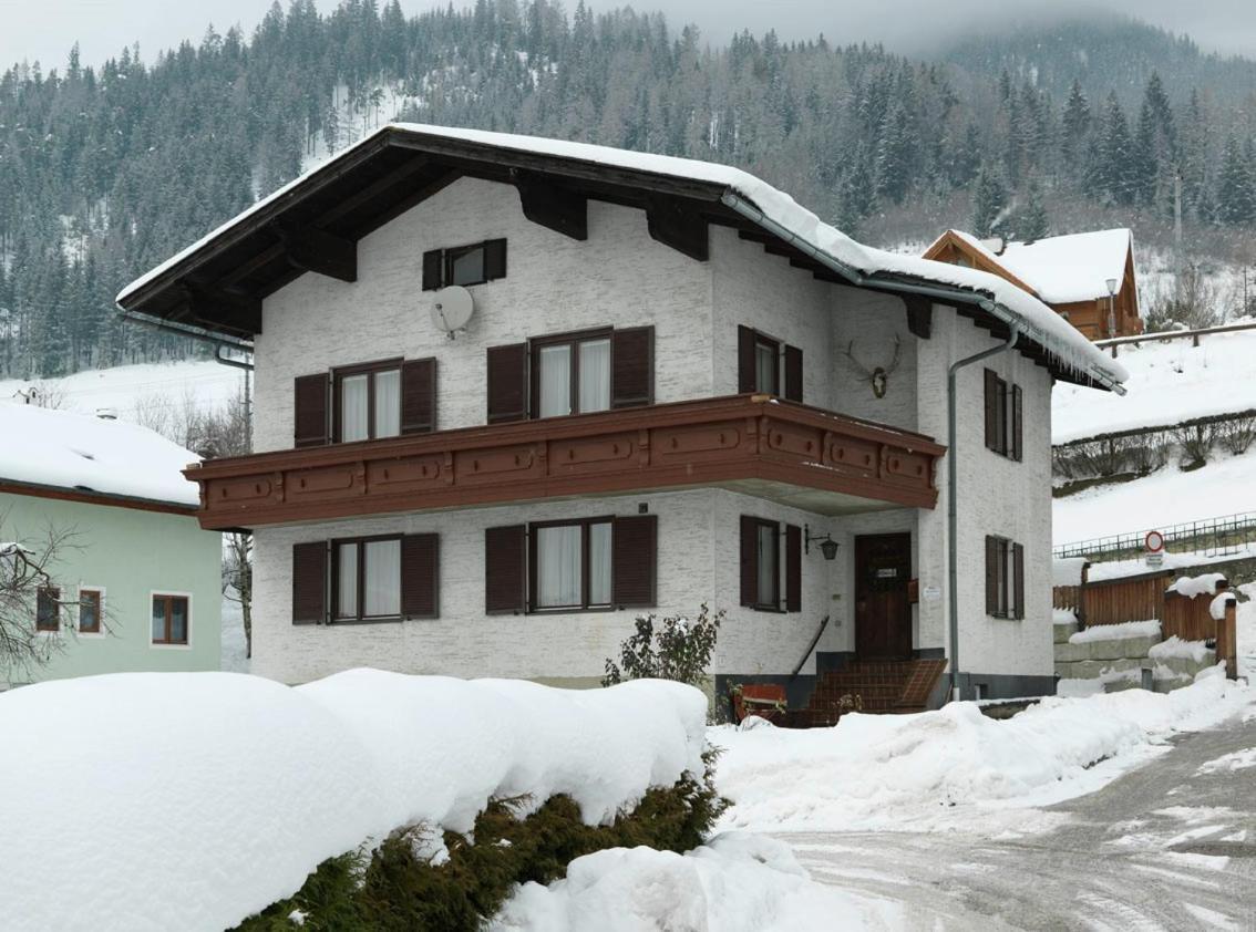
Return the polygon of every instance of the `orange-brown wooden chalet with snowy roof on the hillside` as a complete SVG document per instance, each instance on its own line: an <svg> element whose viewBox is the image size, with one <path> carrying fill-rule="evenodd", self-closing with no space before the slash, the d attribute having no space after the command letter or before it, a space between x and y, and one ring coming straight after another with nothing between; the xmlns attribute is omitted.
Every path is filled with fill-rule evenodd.
<svg viewBox="0 0 1256 932"><path fill-rule="evenodd" d="M1091 340L1143 332L1129 230L1049 236L1032 242L980 240L948 230L924 258L1006 278L1039 299Z"/></svg>

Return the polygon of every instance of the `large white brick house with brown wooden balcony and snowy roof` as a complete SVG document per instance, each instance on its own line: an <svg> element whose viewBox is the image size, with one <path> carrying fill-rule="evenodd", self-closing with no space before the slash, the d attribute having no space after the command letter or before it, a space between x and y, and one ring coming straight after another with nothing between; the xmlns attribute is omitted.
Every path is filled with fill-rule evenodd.
<svg viewBox="0 0 1256 932"><path fill-rule="evenodd" d="M247 350L252 670L595 685L634 616L727 612L717 694L825 720L1054 690L1051 386L1122 366L976 268L745 172L392 124L127 286Z"/></svg>

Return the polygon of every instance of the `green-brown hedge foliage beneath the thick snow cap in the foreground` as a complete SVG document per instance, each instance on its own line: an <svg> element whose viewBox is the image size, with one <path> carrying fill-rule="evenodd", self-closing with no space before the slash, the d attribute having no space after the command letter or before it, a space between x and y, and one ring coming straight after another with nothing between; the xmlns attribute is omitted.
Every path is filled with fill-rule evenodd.
<svg viewBox="0 0 1256 932"><path fill-rule="evenodd" d="M566 795L551 797L522 819L525 799L496 799L476 818L468 837L475 840L445 833L448 859L441 864L426 853L422 825L401 829L373 852L324 861L294 896L237 928L290 932L296 923L289 916L299 911L301 928L314 932L475 932L516 883L550 883L584 854L641 844L685 852L702 844L727 805L712 785L715 754L703 754L701 779L649 790L610 825L585 825Z"/></svg>

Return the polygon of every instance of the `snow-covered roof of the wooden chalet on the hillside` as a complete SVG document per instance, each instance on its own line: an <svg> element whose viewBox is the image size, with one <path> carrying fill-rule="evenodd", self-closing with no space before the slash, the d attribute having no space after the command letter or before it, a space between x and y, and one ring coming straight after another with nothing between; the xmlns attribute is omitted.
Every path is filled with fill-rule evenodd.
<svg viewBox="0 0 1256 932"><path fill-rule="evenodd" d="M982 263L993 263L1026 291L1051 305L1094 301L1108 297L1108 280L1120 291L1134 237L1127 228L1049 236L1032 242L1010 242L1002 252L991 251L981 240L962 230L948 230L924 251L937 255L946 242L961 246Z"/></svg>

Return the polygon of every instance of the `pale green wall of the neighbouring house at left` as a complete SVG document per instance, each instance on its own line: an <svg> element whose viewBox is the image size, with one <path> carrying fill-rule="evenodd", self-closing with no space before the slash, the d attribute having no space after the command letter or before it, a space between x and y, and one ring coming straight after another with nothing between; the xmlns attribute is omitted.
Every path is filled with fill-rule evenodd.
<svg viewBox="0 0 1256 932"><path fill-rule="evenodd" d="M55 635L62 650L48 665L26 670L6 669L0 660L0 687L92 674L219 669L221 534L183 514L0 493L0 541L34 547L49 527L74 534L53 568L62 600L77 598L80 586L103 590L108 631L72 633L67 628L77 613L63 612ZM187 646L151 642L154 592L191 596Z"/></svg>

